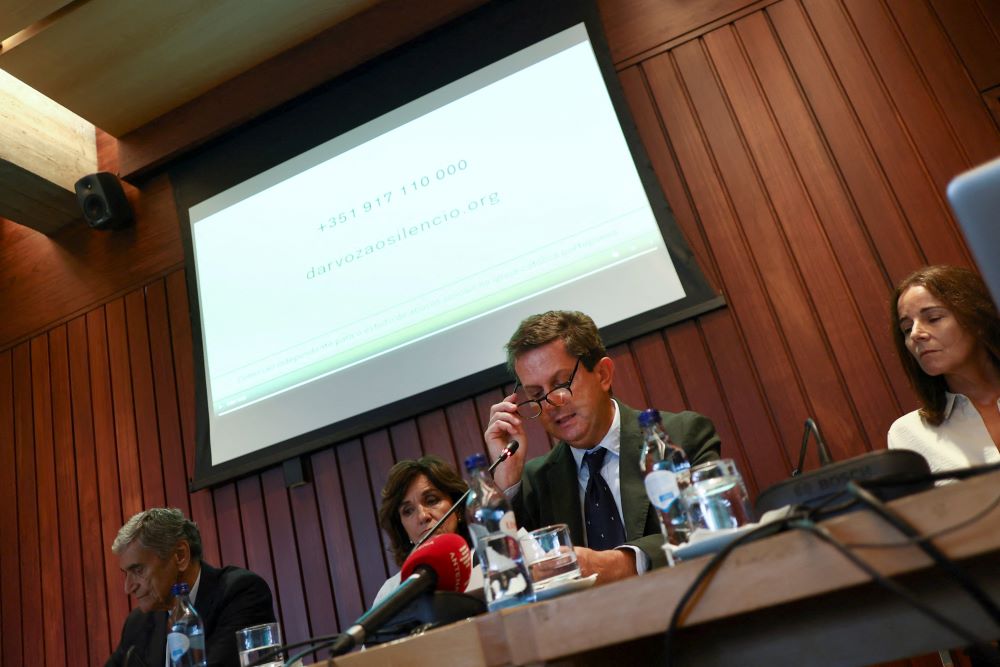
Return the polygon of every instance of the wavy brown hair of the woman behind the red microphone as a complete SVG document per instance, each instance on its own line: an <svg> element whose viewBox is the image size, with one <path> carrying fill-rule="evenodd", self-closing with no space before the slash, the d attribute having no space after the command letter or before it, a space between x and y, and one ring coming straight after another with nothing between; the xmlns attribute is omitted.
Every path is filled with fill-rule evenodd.
<svg viewBox="0 0 1000 667"><path fill-rule="evenodd" d="M433 455L400 461L389 470L389 478L382 489L382 504L378 508L378 523L389 536L389 551L396 559L396 565L402 565L413 549L410 537L399 519L399 506L403 504L403 498L410 484L420 475L425 476L438 491L451 498L452 504L457 503L469 488L454 468ZM457 509L455 516L458 517L458 534L469 542L469 532L465 527L465 512Z"/></svg>

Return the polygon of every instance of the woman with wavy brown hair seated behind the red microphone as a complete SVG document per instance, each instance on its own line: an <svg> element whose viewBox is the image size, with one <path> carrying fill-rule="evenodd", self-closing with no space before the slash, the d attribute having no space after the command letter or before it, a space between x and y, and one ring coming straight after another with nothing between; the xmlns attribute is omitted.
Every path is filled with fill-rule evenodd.
<svg viewBox="0 0 1000 667"><path fill-rule="evenodd" d="M428 530L458 502L468 485L455 469L436 456L421 456L403 460L389 470L382 489L382 504L378 522L389 536L389 550L396 565L402 565ZM459 508L437 530L437 533L458 533L469 542L464 508ZM399 573L389 577L375 596L378 604L399 586ZM468 588L482 586L482 573L472 570Z"/></svg>

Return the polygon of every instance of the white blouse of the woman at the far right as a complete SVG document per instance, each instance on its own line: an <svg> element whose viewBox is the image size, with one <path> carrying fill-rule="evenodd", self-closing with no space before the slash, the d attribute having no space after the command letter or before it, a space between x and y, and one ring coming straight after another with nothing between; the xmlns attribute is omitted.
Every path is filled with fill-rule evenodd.
<svg viewBox="0 0 1000 667"><path fill-rule="evenodd" d="M993 438L982 415L966 396L947 392L944 421L927 423L914 410L889 427L889 449L909 449L921 454L931 472L943 472L1000 461ZM1000 410L1000 400L996 409Z"/></svg>

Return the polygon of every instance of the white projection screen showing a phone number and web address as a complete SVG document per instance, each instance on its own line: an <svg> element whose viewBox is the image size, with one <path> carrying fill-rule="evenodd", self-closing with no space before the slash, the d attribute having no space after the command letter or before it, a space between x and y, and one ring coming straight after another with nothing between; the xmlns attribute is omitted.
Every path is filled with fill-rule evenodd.
<svg viewBox="0 0 1000 667"><path fill-rule="evenodd" d="M213 465L684 297L582 24L189 217Z"/></svg>

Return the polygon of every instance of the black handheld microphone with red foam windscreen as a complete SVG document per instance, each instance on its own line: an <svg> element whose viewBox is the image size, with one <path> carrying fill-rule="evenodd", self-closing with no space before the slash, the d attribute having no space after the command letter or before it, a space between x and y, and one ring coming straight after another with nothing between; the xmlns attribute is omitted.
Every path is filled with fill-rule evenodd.
<svg viewBox="0 0 1000 667"><path fill-rule="evenodd" d="M429 539L422 547L414 549L403 563L400 569L403 583L399 588L365 612L333 643L333 655L341 655L364 643L365 637L428 591L465 591L471 576L472 553L464 538L446 533Z"/></svg>

